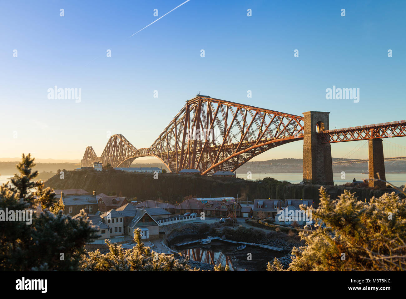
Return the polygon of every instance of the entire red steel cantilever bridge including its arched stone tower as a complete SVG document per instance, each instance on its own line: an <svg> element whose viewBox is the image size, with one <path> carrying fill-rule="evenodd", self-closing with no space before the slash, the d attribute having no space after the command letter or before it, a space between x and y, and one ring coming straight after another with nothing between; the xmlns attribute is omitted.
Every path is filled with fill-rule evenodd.
<svg viewBox="0 0 406 299"><path fill-rule="evenodd" d="M304 181L332 183L329 179L323 181L324 170L318 179L315 175L310 175L310 181L305 179L306 171L317 172L324 168L322 164L332 167L326 144L406 136L406 120L328 130L328 112L303 114L297 116L198 94L186 101L149 148L136 148L123 135L115 134L101 156L88 146L81 166L101 161L112 167L129 167L134 159L151 156L160 159L171 172L194 168L202 175L211 175L218 170L235 171L271 148L304 139L304 161L311 163L303 165Z"/></svg>

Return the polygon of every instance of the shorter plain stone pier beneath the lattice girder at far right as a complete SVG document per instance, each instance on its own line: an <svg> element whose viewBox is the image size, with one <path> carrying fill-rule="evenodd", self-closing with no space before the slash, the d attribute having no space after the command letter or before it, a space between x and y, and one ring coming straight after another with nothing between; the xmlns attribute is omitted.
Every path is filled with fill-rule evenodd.
<svg viewBox="0 0 406 299"><path fill-rule="evenodd" d="M380 179L386 181L382 139L368 140L368 154L369 187L385 187L386 183L374 181L374 179L378 179L378 175L376 175L377 172L379 173Z"/></svg>

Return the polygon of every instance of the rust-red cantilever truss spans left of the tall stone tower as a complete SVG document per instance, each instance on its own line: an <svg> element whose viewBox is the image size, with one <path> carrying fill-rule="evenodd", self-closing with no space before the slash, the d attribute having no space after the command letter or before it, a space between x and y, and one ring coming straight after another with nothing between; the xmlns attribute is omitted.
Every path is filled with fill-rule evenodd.
<svg viewBox="0 0 406 299"><path fill-rule="evenodd" d="M303 117L197 95L171 120L149 148L137 149L123 135L110 137L100 157L88 146L82 166L92 162L128 167L138 157L158 157L171 172L195 168L202 175L235 171L264 151L303 139Z"/></svg>

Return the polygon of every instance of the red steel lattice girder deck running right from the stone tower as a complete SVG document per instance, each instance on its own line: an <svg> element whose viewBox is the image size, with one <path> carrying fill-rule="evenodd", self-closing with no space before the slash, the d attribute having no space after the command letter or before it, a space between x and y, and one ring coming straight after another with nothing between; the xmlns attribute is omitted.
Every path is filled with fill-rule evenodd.
<svg viewBox="0 0 406 299"><path fill-rule="evenodd" d="M406 136L406 120L328 130L319 133L322 143L368 140Z"/></svg>

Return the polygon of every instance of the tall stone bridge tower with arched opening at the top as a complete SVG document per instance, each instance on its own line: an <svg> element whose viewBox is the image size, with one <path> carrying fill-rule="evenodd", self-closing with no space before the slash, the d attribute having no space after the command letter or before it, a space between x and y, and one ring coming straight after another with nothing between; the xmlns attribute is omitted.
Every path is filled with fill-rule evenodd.
<svg viewBox="0 0 406 299"><path fill-rule="evenodd" d="M328 130L330 112L308 111L304 115L303 182L333 185L330 143L322 143L318 132Z"/></svg>

